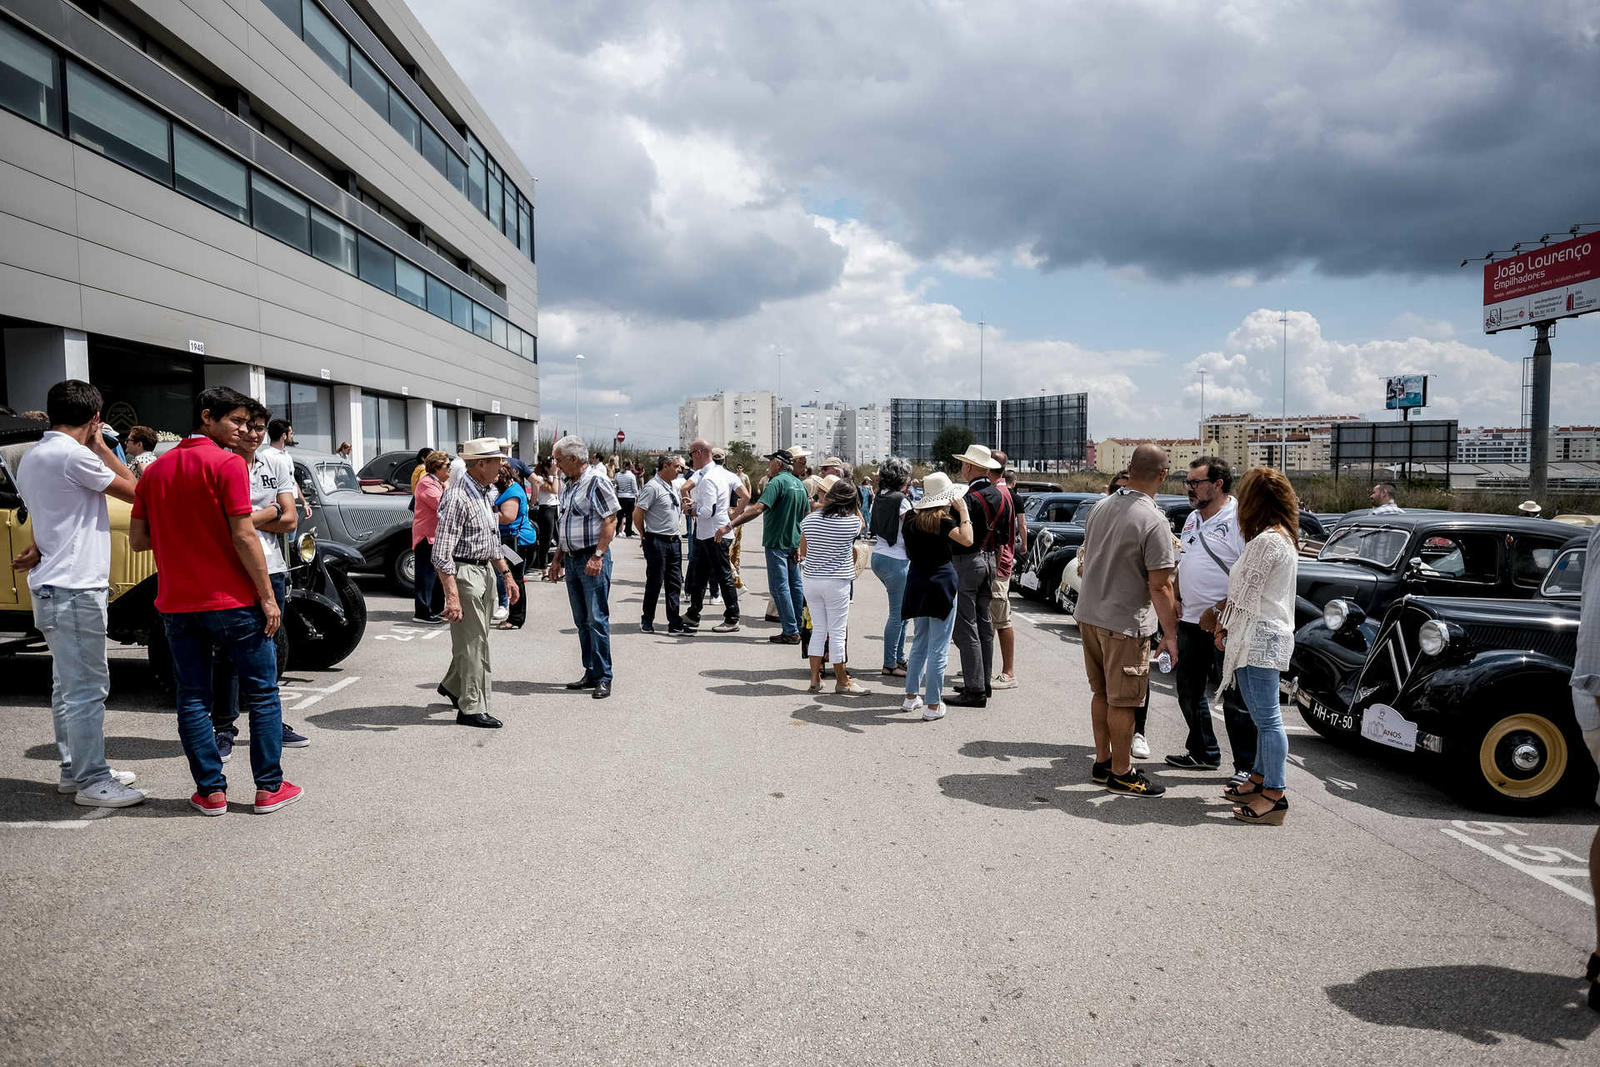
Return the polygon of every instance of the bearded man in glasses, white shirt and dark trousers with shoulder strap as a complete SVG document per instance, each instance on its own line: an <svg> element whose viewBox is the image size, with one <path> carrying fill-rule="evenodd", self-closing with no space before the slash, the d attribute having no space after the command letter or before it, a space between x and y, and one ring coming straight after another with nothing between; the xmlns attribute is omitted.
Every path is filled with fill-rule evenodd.
<svg viewBox="0 0 1600 1067"><path fill-rule="evenodd" d="M1178 560L1178 665L1173 688L1178 707L1189 723L1186 752L1166 761L1189 771L1214 771L1222 765L1211 725L1211 693L1222 681L1222 653L1211 632L1216 629L1216 605L1227 600L1227 576L1245 552L1245 536L1238 530L1238 502L1229 496L1234 472L1216 456L1202 456L1189 464L1184 480L1189 502L1184 520L1182 557ZM1222 725L1234 749L1235 774L1250 776L1256 765L1256 725L1250 718L1238 689L1222 694Z"/></svg>

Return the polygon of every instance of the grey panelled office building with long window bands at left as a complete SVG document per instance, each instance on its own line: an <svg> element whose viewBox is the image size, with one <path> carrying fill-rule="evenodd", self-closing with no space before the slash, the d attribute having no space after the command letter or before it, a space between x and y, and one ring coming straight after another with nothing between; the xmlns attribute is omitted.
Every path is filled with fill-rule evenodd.
<svg viewBox="0 0 1600 1067"><path fill-rule="evenodd" d="M400 0L0 0L0 398L538 440L533 179Z"/></svg>

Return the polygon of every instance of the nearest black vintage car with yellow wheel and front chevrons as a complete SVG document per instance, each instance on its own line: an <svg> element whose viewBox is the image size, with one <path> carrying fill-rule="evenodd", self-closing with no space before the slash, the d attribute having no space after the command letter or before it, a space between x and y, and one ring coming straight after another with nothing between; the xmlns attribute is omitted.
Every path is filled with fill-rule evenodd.
<svg viewBox="0 0 1600 1067"><path fill-rule="evenodd" d="M1381 622L1331 600L1294 635L1285 696L1326 737L1442 761L1480 808L1594 795L1568 688L1589 533L1566 533L1531 598L1406 595Z"/></svg>

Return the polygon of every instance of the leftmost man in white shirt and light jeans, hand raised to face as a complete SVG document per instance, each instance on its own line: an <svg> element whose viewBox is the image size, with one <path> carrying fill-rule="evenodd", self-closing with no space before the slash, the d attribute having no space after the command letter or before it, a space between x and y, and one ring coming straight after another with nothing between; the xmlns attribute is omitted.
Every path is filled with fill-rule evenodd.
<svg viewBox="0 0 1600 1067"><path fill-rule="evenodd" d="M131 771L106 765L106 601L110 590L110 510L106 498L133 502L134 477L101 437L101 392L67 379L50 387L50 430L18 464L16 488L34 526L34 545L13 569L27 571L34 624L54 657L50 712L61 750L58 792L86 808L128 808L144 800Z"/></svg>

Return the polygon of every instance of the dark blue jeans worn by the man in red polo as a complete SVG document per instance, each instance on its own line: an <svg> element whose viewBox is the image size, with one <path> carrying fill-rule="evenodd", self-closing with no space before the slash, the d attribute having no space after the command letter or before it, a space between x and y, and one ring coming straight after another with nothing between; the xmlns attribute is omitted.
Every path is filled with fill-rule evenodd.
<svg viewBox="0 0 1600 1067"><path fill-rule="evenodd" d="M261 608L174 611L162 614L173 646L178 683L178 736L189 773L203 793L226 792L222 757L211 725L211 661L221 651L238 675L238 702L250 715L250 769L256 789L283 784L283 705L278 702L278 649L266 635Z"/></svg>

